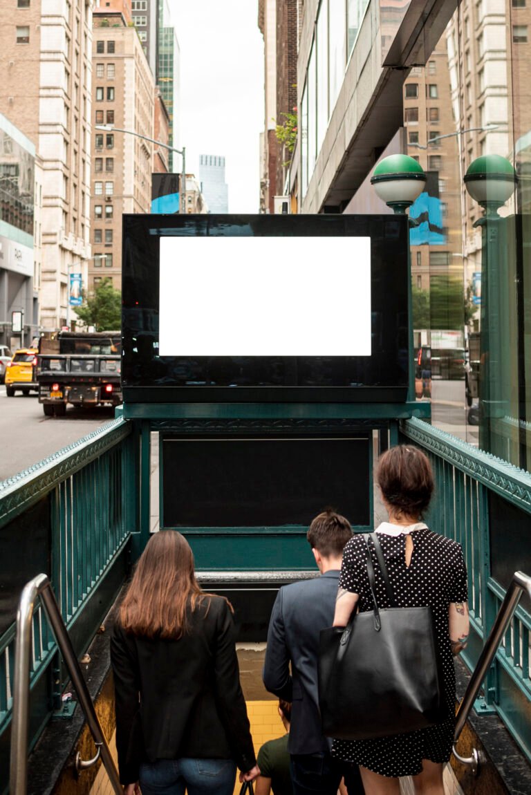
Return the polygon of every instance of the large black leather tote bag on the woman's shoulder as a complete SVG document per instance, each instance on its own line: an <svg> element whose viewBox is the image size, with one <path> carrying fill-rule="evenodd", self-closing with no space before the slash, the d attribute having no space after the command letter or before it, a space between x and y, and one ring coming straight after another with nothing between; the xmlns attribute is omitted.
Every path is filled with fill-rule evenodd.
<svg viewBox="0 0 531 795"><path fill-rule="evenodd" d="M322 630L319 701L324 734L358 740L403 734L448 717L430 607L378 607L373 541L391 605L396 605L376 533L365 536L374 611Z"/></svg>

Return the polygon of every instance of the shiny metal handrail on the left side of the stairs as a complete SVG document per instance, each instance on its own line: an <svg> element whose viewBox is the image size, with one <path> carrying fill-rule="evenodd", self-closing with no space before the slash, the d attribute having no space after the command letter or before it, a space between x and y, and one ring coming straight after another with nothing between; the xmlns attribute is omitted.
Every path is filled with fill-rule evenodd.
<svg viewBox="0 0 531 795"><path fill-rule="evenodd" d="M32 644L32 619L37 596L41 598L41 603L45 607L57 646L68 668L68 673L70 673L72 684L76 688L79 703L85 713L95 746L99 749L99 754L93 761L95 762L101 754L103 766L107 770L114 793L122 795L123 788L120 784L118 770L116 770L107 739L105 739L98 715L96 715L68 630L61 617L56 597L52 591L52 584L45 574L37 575L25 585L18 603L13 722L11 726L10 795L26 795L28 783L29 661Z"/></svg>

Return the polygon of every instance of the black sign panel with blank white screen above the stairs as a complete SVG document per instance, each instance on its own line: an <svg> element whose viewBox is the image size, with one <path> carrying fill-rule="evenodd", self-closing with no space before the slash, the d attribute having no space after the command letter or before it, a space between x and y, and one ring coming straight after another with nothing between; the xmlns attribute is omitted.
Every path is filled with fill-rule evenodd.
<svg viewBox="0 0 531 795"><path fill-rule="evenodd" d="M405 401L407 219L124 215L124 400Z"/></svg>

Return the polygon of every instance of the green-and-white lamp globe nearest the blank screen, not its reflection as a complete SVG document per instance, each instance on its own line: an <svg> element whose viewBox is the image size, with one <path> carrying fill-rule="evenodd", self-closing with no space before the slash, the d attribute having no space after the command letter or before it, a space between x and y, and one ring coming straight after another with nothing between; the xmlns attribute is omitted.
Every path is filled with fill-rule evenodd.
<svg viewBox="0 0 531 795"><path fill-rule="evenodd" d="M425 182L422 166L407 154L384 157L370 177L379 198L395 212L405 212L421 194Z"/></svg>

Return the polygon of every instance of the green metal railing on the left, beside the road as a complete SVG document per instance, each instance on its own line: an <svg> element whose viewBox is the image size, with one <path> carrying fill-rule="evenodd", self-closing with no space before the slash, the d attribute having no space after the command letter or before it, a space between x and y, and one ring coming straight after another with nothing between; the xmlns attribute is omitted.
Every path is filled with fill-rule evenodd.
<svg viewBox="0 0 531 795"><path fill-rule="evenodd" d="M73 648L82 654L126 576L140 516L139 461L138 433L119 419L0 483L0 580L8 584L0 611L0 771L9 768L14 619L23 580L48 573ZM27 560L21 557L14 567L21 541ZM60 711L63 678L40 605L33 614L30 669L33 745L54 709ZM0 773L0 792L5 786Z"/></svg>

